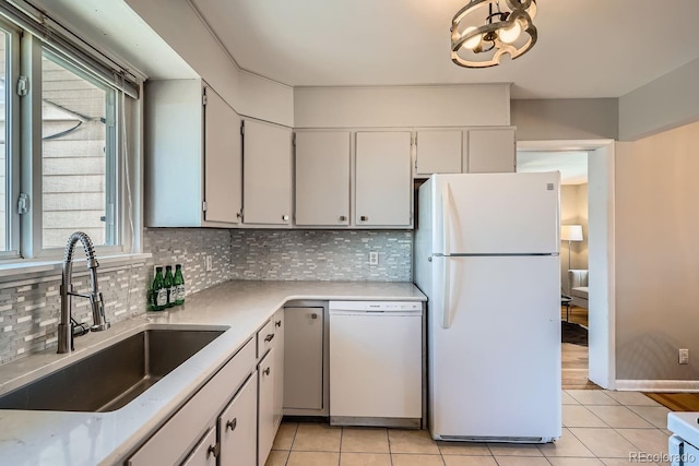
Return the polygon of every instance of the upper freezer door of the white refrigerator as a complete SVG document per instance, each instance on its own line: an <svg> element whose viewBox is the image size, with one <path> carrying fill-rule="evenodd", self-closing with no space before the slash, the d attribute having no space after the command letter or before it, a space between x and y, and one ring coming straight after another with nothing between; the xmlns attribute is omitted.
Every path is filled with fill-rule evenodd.
<svg viewBox="0 0 699 466"><path fill-rule="evenodd" d="M435 175L433 182L433 253L559 251L557 171Z"/></svg>

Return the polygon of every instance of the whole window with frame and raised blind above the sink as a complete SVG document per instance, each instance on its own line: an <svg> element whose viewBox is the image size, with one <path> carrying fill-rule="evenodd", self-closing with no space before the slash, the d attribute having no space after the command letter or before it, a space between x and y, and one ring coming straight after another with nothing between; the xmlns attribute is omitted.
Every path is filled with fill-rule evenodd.
<svg viewBox="0 0 699 466"><path fill-rule="evenodd" d="M0 13L7 8L0 5ZM122 106L131 108L138 91L91 56L49 44L51 38L0 17L4 261L59 259L76 230L103 253L128 252L125 244L133 241L133 231L123 228L132 213L120 205L122 200L130 206L119 135L129 134Z"/></svg>

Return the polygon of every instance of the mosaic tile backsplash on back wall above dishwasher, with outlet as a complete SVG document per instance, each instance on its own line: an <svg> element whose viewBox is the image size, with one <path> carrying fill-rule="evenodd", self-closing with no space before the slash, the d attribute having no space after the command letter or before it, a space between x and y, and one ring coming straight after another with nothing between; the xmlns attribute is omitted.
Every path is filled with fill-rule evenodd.
<svg viewBox="0 0 699 466"><path fill-rule="evenodd" d="M230 230L232 278L412 282L412 231ZM369 252L379 264L369 265Z"/></svg>

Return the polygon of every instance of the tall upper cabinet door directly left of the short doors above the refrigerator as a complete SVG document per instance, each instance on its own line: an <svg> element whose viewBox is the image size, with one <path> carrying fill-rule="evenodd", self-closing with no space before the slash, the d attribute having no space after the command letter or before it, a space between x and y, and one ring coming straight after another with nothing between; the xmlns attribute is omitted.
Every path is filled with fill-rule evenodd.
<svg viewBox="0 0 699 466"><path fill-rule="evenodd" d="M357 132L357 226L411 226L411 133Z"/></svg>

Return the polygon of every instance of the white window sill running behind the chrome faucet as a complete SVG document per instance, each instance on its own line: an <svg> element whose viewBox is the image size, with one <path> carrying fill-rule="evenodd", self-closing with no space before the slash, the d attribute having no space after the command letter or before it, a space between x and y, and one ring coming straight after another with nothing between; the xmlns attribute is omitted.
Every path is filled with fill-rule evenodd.
<svg viewBox="0 0 699 466"><path fill-rule="evenodd" d="M100 268L114 268L123 266L141 265L145 263L153 254L135 253L135 254L114 254L97 256ZM79 272L85 267L85 258L76 258L73 261L73 271ZM14 282L19 279L35 277L60 275L63 270L62 260L47 261L19 261L13 263L0 264L0 284Z"/></svg>

